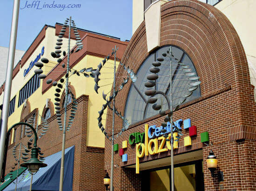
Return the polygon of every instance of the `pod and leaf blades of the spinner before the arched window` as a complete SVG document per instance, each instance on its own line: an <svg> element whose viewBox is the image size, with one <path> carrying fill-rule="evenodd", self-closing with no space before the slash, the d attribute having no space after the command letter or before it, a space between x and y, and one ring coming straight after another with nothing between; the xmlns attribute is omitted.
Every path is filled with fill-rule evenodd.
<svg viewBox="0 0 256 191"><path fill-rule="evenodd" d="M163 57L158 57L157 58L157 61L153 62L152 65L154 67L150 68L149 71L151 72L151 74L149 74L147 76L147 79L149 80L148 82L145 83L145 86L148 88L146 91L145 91L145 95L146 96L150 96L148 98L148 103L149 104L154 104L152 106L152 108L154 110L160 110L159 114L161 116L164 116L164 115L167 115L164 119L164 122L162 123L162 127L166 127L167 126L167 122L171 122L173 123L172 121L172 115L173 115L173 112L177 111L179 109L179 106L184 103L186 101L186 99L191 96L193 94L193 91L195 89L198 88L198 86L200 85L200 81L198 80L199 79L199 76L196 76L196 73L195 72L192 72L192 69L189 68L189 65L188 64L184 64L182 63L181 60L175 58L173 52L172 52L172 48L170 47L168 49L167 52L163 52L162 53L162 56ZM158 79L162 76L159 76L157 73L161 70L161 68L159 68L161 65L162 65L162 62L165 60L164 57L167 57L167 59L169 59L169 65L170 65L170 72L169 72L169 85L168 85L168 89L170 89L170 110L168 111L168 113L166 113L166 111L162 110L162 104L159 104L159 103L155 103L157 102L157 97L154 97L155 96L155 89L154 86L156 84L156 79ZM172 67L175 67L175 69L173 69ZM172 73L172 70L174 70L174 73ZM180 70L181 72L179 74L176 74L175 71L176 70ZM175 77L174 76L179 76L179 77ZM182 85L177 85L177 86L173 86L173 83L175 81L182 81ZM166 83L166 82L157 82L157 83ZM175 88L175 87L182 87L181 91L178 91L178 92L173 92L172 91L172 88ZM176 103L174 104L174 100L173 100L173 95L175 95L175 93L179 93L178 96L176 96ZM178 141L181 136L182 136L182 131L177 128L174 124L172 124L174 126L174 128L172 128L173 132L177 132L178 133L178 136L176 136L176 140L175 141ZM171 126L172 126L171 125ZM165 132L162 132L162 133L166 133ZM164 134L164 137L168 137L168 134ZM172 138L173 140L173 138Z"/></svg>

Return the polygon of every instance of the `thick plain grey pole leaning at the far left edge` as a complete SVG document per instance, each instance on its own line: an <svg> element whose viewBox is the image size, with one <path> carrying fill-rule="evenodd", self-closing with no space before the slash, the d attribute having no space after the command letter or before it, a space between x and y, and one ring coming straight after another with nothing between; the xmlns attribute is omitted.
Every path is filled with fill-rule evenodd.
<svg viewBox="0 0 256 191"><path fill-rule="evenodd" d="M8 52L8 61L7 61L7 72L6 72L6 81L5 81L5 91L4 91L4 100L3 100L3 110L2 110L2 125L1 125L1 135L0 135L0 172L3 168L3 159L4 159L4 149L5 149L5 138L7 132L7 122L8 122L8 113L9 113L9 104L11 96L11 87L12 87L12 77L13 77L13 61L16 48L16 37L17 37L17 27L18 27L18 18L19 18L19 9L20 9L20 0L14 0L13 3L13 19L12 19L12 28ZM5 168L5 166L4 166Z"/></svg>

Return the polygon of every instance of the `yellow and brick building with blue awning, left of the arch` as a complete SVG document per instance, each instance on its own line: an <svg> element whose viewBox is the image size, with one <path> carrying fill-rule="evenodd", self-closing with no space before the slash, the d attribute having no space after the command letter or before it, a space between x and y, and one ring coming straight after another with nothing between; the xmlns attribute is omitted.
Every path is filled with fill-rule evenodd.
<svg viewBox="0 0 256 191"><path fill-rule="evenodd" d="M34 128L36 128L38 124L37 134L39 140L37 145L40 147L41 153L44 154L43 156L46 158L46 161L48 159L47 157L51 157L53 154L55 154L54 156L58 155L56 153L61 151L62 145L63 132L59 128L58 120L56 119L56 110L58 109L54 105L54 102L56 102L54 101L56 87L54 87L52 83L46 83L49 78L57 83L61 83L61 78L65 78L67 69L64 69L62 64L67 63L67 55L62 56L61 54L62 61L59 64L57 63L57 58L51 56L51 52L55 51L54 47L56 46L56 40L59 38L58 36L62 27L63 24L60 23L56 23L55 26L44 25L38 36L34 39L21 60L13 69L8 128L18 122L29 122L30 119L32 119L30 124L34 126ZM121 57L128 44L128 42L121 41L119 38L112 36L87 31L81 28L78 28L77 30L81 36L81 43L84 46L80 51L73 52L72 50L75 50L76 48L76 42L74 35L72 36L71 51L73 53L70 55L70 68L72 72L74 72L74 70L80 71L83 68L96 69L97 65L104 59L104 57L107 57L109 53L111 54L112 48L115 47L115 45L119 46L117 56ZM73 29L71 32L73 32ZM67 51L67 33L62 39L63 47L61 50ZM43 74L46 75L46 78L43 80L40 80L38 74L34 73L34 70L38 68L35 65L31 65L31 63L37 59L38 55L40 55L40 58L45 57L49 60L49 62L42 67ZM113 64L113 59L114 57L110 56L106 65ZM38 62L42 61L38 60ZM106 77L109 78L108 83L111 83L113 82L113 79L111 79L113 78L113 70L111 70L111 72L109 72L109 70L111 69L108 69L108 67L103 68L102 72L108 73ZM3 100L4 87L5 84L0 87L0 102ZM65 167L64 174L68 173L70 176L73 176L73 178L70 179L70 176L67 178L64 177L64 190L67 190L65 184L68 184L74 191L94 191L104 189L104 134L101 133L100 129L95 128L95 126L97 126L97 119L94 117L103 102L100 101L101 94L96 94L93 88L94 78L85 77L82 72L80 76L73 75L69 78L68 89L76 99L77 112L72 127L66 133L65 148L74 146L74 168L69 168L72 164L67 164L67 168ZM62 88L59 93L62 123L64 116L64 89L65 88ZM108 89L111 89L111 85L101 88L99 92L103 90L107 92ZM68 99L67 105L67 121L73 107L70 93L68 98L70 99ZM47 131L43 128L44 125L42 119L47 120L49 127ZM30 133L27 133L28 131L29 130L23 125L15 127L11 131L7 152L6 174L10 171L17 170L17 161L15 161L15 159L19 158L20 143L23 144L23 146L21 146L21 153L25 153L24 146L28 147L27 142L34 141L30 140L34 137L34 134L30 136ZM28 156L30 156L30 154ZM26 158L27 156L20 154L20 157ZM60 162L60 158L55 157L53 161L57 161L57 164ZM20 163L23 162L24 161L20 159ZM47 164L48 167L52 166L52 169L60 169L60 166L56 167L56 165L51 162L52 161ZM14 165L15 163L16 166ZM34 175L34 188L39 184L36 181L36 176L51 171L48 167L45 169L41 168L39 172ZM15 173L13 177L13 179L15 179ZM29 187L24 187L26 185L22 184L26 181L30 181L30 178L31 176L28 171L25 171L24 175L20 175L18 177L18 189L22 188L29 190ZM48 178L50 178L48 183L39 184L41 190L51 190L47 187L50 184L57 186L57 189L59 189L60 172L56 178L53 178L53 176L48 176ZM15 182L16 180L8 185L5 190L12 190L13 187L15 188ZM0 190L2 190L3 187L0 187Z"/></svg>

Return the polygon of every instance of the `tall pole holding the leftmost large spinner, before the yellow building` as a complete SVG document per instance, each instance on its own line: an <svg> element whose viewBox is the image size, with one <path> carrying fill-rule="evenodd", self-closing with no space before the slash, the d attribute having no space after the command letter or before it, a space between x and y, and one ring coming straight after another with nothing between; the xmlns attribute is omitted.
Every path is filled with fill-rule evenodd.
<svg viewBox="0 0 256 191"><path fill-rule="evenodd" d="M70 54L70 32L71 32L71 17L69 17L69 31L68 31L68 45L67 45L67 78L66 78L66 86L65 86L64 122L63 122L63 137L62 137L62 150L61 150L60 191L63 190L63 178L64 178L65 139L66 139L66 120L67 120L67 96L68 96L68 72L69 72L69 54Z"/></svg>

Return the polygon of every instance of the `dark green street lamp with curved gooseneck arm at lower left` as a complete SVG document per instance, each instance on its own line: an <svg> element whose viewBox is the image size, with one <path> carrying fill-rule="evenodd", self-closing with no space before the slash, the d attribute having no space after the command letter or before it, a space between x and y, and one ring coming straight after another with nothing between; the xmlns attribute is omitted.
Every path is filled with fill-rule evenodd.
<svg viewBox="0 0 256 191"><path fill-rule="evenodd" d="M9 128L9 130L7 131L7 136L5 139L5 150L3 153L3 163L2 163L2 172L1 172L1 182L5 181L5 167L6 167L6 158L7 158L7 150L8 150L8 140L9 140L9 136L11 134L11 130L19 125L26 125L28 127L30 127L32 129L32 131L34 132L34 147L31 150L31 159L23 164L21 164L20 166L22 167L27 167L28 171L31 174L35 174L38 169L40 167L46 167L47 164L42 163L40 160L38 160L38 148L37 148L37 134L36 131L34 129L34 127L32 127L30 124L28 123L24 123L24 122L20 122L20 123L15 123L11 128Z"/></svg>

